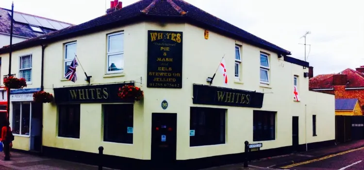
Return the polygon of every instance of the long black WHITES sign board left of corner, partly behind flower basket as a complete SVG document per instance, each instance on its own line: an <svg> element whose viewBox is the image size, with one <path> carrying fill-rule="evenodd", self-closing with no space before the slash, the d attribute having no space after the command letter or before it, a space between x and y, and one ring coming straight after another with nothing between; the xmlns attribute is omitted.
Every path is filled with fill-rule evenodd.
<svg viewBox="0 0 364 170"><path fill-rule="evenodd" d="M118 96L119 88L134 83L83 85L54 88L54 101L60 103L133 102Z"/></svg>

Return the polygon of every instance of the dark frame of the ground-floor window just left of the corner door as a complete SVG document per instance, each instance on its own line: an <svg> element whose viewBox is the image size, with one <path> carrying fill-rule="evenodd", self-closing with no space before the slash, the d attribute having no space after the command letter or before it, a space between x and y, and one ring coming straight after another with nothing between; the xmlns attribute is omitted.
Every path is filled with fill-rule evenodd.
<svg viewBox="0 0 364 170"><path fill-rule="evenodd" d="M132 134L132 139L131 139L131 142L127 142L128 140L127 139L122 139L121 141L119 140L116 140L116 139L105 139L105 134L106 134L106 128L105 128L105 124L106 124L106 119L105 119L105 106L113 106L113 105L129 105L129 106L126 106L126 107L132 107L132 128L134 129L134 105L131 104L131 103L121 103L121 104L102 104L102 142L110 142L110 143L117 143L117 144L129 144L129 145L132 145L134 143L134 133L131 133ZM127 110L127 109L126 109ZM115 114L114 113L111 113L111 114ZM116 113L116 114L125 114L125 115L129 115L130 113ZM127 130L127 129L125 129Z"/></svg>

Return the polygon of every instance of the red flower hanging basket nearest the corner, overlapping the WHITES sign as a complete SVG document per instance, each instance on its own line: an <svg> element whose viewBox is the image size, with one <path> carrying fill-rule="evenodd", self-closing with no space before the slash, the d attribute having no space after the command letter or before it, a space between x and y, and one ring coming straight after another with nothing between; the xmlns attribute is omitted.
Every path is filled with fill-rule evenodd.
<svg viewBox="0 0 364 170"><path fill-rule="evenodd" d="M118 96L121 99L140 101L144 97L143 90L133 85L124 85L119 88Z"/></svg>

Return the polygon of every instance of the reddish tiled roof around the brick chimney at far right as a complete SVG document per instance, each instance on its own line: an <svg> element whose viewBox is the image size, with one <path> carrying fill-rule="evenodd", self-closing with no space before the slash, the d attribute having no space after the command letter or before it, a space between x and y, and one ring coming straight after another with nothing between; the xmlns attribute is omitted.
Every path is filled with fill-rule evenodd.
<svg viewBox="0 0 364 170"><path fill-rule="evenodd" d="M346 88L364 87L364 73L347 68L341 72L347 75ZM310 89L323 89L333 88L333 75L335 74L321 74L309 80Z"/></svg>

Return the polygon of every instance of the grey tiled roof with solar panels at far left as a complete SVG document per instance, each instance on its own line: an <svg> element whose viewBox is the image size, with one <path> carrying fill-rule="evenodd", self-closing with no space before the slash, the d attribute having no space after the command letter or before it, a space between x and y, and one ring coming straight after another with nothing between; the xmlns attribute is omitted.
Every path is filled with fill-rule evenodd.
<svg viewBox="0 0 364 170"><path fill-rule="evenodd" d="M10 34L10 26L11 26L11 16L9 15L8 12L11 12L11 10L8 9L4 9L4 8L0 8L0 34ZM16 11L14 11L16 12ZM19 13L19 12L16 12ZM23 13L20 13L23 14ZM28 16L33 16L33 15L29 15L26 14ZM33 16L33 17L38 17L38 16ZM44 17L40 17L43 19L48 19L48 18L44 18ZM52 20L52 19L48 19L48 20ZM53 20L55 21L55 20ZM59 21L57 21L59 22ZM66 22L62 22L62 23L66 23ZM68 24L68 23L66 23ZM26 37L26 38L34 38L43 34L47 34L50 32L55 31L55 29L50 29L50 28L45 28L45 27L40 27L44 33L39 33L39 32L34 32L29 24L25 24L25 23L21 23L21 22L14 22L14 26L13 26L13 35L16 36L22 36L22 37Z"/></svg>

